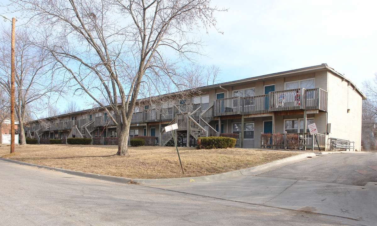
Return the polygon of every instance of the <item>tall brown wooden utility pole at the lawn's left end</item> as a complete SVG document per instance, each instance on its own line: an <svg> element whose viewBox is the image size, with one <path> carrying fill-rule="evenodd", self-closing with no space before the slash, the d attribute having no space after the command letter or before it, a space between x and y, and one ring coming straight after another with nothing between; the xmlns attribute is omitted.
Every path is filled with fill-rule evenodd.
<svg viewBox="0 0 377 226"><path fill-rule="evenodd" d="M14 42L16 19L12 18L12 43L11 43L11 153L14 153Z"/></svg>

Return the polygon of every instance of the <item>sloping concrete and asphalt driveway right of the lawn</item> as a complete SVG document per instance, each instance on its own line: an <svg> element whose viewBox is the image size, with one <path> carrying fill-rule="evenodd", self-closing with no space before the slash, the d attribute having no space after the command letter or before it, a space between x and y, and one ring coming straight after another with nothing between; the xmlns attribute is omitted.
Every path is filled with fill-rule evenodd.
<svg viewBox="0 0 377 226"><path fill-rule="evenodd" d="M294 162L257 176L161 188L314 212L351 224L374 226L377 222L376 166L376 153L334 153Z"/></svg>

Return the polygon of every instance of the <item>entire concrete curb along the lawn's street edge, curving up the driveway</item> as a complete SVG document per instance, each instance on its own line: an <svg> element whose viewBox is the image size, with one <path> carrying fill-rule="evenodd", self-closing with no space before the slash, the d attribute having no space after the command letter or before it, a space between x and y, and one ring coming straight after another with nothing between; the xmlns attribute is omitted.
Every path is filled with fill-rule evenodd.
<svg viewBox="0 0 377 226"><path fill-rule="evenodd" d="M29 165L29 166L35 166L38 168L46 168L49 170L55 170L62 173L76 175L76 176L83 176L83 177L89 177L93 179L107 180L111 182L118 182L118 183L124 183L124 184L128 184L129 182L136 182L143 185L179 185L179 184L189 184L193 182L213 182L213 181L218 181L218 180L234 179L236 177L255 176L257 174L265 173L267 171L274 170L284 165L291 164L295 161L300 161L307 157L314 157L314 156L316 156L316 154L314 153L303 153L300 155L295 155L288 158L279 159L279 160L269 162L263 165L258 165L255 167L250 167L250 168L246 168L242 170L235 170L235 171L231 171L227 173L220 173L220 174L200 176L200 177L183 177L183 178L170 178L170 179L131 179L127 177L108 176L108 175L95 174L95 173L84 173L84 172L74 171L74 170L65 170L65 169L48 167L48 166L43 166L43 165L35 165L35 164L27 163L27 162L19 162L16 160L6 159L6 158L0 158L0 160L5 161L5 162L17 163L20 165Z"/></svg>

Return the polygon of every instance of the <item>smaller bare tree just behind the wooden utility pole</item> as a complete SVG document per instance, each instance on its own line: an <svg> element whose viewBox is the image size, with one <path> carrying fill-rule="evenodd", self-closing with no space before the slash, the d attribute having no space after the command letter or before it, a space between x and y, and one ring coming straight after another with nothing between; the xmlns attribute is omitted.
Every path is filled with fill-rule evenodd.
<svg viewBox="0 0 377 226"><path fill-rule="evenodd" d="M10 96L11 64L9 53L10 32L3 29L0 36L0 86ZM47 96L61 90L54 86L53 77L49 76L48 54L34 46L32 33L27 29L18 29L15 38L15 113L18 118L21 145L26 144L23 125L26 115L32 111L38 114L44 109Z"/></svg>

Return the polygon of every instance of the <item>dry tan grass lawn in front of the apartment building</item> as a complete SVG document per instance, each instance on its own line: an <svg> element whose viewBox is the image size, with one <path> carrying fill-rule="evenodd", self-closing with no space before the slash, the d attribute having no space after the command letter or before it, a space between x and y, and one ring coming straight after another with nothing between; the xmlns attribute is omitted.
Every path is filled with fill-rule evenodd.
<svg viewBox="0 0 377 226"><path fill-rule="evenodd" d="M0 156L87 173L158 179L224 173L299 154L240 148L197 150L179 147L185 172L182 175L175 147L129 147L128 156L114 156L117 149L118 146L26 144L15 148L16 155L9 155L9 146L0 147Z"/></svg>

